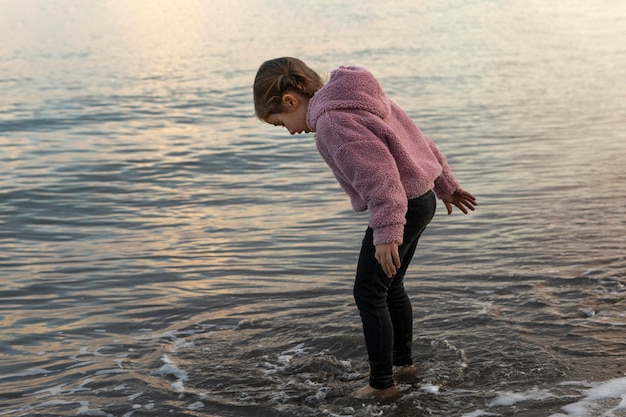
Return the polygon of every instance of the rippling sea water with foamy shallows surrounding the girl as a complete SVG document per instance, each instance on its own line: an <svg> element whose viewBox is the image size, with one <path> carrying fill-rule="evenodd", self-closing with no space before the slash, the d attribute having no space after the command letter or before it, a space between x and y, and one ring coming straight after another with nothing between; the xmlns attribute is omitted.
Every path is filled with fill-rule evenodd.
<svg viewBox="0 0 626 417"><path fill-rule="evenodd" d="M0 1L1 416L623 416L626 3ZM368 67L479 210L355 401L366 214L258 65Z"/></svg>

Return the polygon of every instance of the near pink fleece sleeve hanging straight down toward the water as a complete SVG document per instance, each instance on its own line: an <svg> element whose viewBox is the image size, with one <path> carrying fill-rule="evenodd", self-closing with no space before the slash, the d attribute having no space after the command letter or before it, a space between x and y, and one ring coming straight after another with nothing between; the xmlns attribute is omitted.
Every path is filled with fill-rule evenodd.
<svg viewBox="0 0 626 417"><path fill-rule="evenodd" d="M365 201L374 244L402 244L406 192L385 143L365 126L347 119L325 123L318 135L326 138L328 157L340 183L346 184L344 189L351 188L346 191L356 192Z"/></svg>

